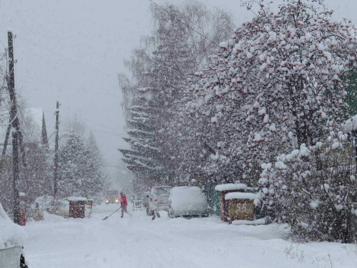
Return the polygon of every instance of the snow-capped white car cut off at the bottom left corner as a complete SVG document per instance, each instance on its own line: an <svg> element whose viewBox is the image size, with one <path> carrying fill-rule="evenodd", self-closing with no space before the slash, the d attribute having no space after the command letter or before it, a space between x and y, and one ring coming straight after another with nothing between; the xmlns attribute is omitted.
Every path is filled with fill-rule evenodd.
<svg viewBox="0 0 357 268"><path fill-rule="evenodd" d="M12 222L0 203L0 267L27 268L24 247L25 231Z"/></svg>

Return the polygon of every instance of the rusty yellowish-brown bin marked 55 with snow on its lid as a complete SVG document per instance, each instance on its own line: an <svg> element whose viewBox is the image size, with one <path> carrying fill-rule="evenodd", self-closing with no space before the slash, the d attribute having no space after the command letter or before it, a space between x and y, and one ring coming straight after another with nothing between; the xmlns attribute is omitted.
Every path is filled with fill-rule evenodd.
<svg viewBox="0 0 357 268"><path fill-rule="evenodd" d="M233 220L254 220L254 193L227 193L228 223Z"/></svg>

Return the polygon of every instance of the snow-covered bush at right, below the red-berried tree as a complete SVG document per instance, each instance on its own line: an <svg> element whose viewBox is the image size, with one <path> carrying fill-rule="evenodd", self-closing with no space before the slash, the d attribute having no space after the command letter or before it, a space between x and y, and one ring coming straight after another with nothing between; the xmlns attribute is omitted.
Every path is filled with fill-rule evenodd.
<svg viewBox="0 0 357 268"><path fill-rule="evenodd" d="M298 240L348 242L349 205L356 202L355 141L333 131L324 142L301 144L262 164L263 205Z"/></svg>

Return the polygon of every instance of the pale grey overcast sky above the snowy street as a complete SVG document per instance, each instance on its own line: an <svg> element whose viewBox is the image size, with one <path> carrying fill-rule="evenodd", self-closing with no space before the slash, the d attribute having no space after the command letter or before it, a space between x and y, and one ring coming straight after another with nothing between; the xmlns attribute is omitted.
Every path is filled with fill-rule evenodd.
<svg viewBox="0 0 357 268"><path fill-rule="evenodd" d="M202 2L230 11L237 25L254 16L238 0ZM336 19L357 23L356 0L326 3L336 10ZM44 108L48 135L54 131L56 100L61 103L62 125L76 113L87 130L94 131L108 165L119 163L117 148L126 146L121 139L125 121L117 74L127 73L123 59L140 44L141 35L150 33L149 5L149 0L0 1L0 40L7 46L8 28L17 35L14 56L20 95L29 107Z"/></svg>

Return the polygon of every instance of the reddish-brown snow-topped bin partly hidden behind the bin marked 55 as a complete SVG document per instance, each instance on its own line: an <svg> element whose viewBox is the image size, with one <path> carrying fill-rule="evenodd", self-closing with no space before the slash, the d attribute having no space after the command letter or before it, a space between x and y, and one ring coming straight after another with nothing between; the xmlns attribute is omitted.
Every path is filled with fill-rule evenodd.
<svg viewBox="0 0 357 268"><path fill-rule="evenodd" d="M218 192L218 200L220 203L220 216L224 222L229 222L228 219L228 201L225 199L225 195L228 193L241 192L243 193L247 188L243 183L227 183L218 184L215 190Z"/></svg>

